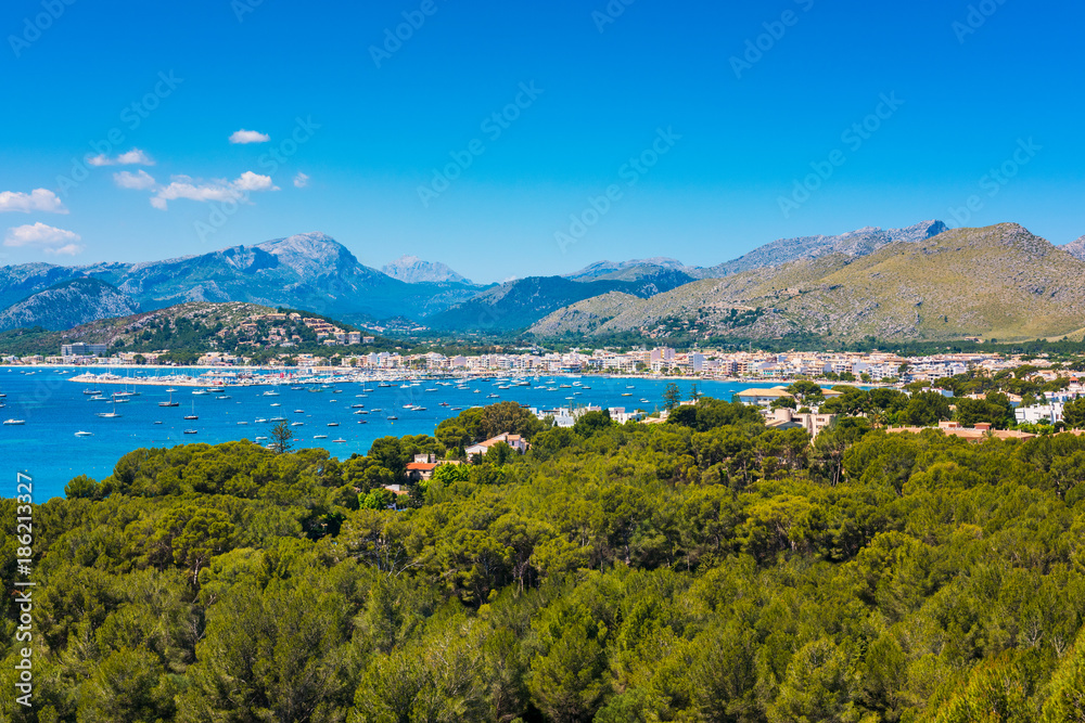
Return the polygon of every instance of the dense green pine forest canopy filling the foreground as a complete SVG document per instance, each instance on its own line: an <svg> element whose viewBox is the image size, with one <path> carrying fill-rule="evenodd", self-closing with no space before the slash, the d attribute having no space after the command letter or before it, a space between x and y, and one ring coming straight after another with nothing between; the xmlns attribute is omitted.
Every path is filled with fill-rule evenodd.
<svg viewBox="0 0 1085 723"><path fill-rule="evenodd" d="M809 444L709 399L665 424L449 422L344 461L194 444L74 479L34 508L22 720L1085 715L1085 438L861 418ZM526 455L443 465L406 509L371 495L521 422ZM4 537L5 580L14 558Z"/></svg>

